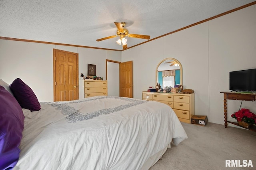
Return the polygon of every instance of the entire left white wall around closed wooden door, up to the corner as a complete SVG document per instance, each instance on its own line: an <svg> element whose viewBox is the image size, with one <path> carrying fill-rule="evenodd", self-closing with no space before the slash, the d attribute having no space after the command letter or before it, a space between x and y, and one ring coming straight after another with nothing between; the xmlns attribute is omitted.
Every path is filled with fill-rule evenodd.
<svg viewBox="0 0 256 170"><path fill-rule="evenodd" d="M106 80L106 59L121 61L121 52L44 43L0 40L0 77L11 84L22 79L39 101L53 101L53 49L78 53L78 71L87 75L87 64L96 64L97 76ZM118 85L118 84L117 84ZM79 80L79 98L84 98L84 81Z"/></svg>

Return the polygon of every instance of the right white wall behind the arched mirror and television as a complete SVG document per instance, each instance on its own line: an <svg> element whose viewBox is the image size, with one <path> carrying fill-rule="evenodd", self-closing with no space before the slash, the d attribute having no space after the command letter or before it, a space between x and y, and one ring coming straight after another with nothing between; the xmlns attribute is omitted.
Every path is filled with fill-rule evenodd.
<svg viewBox="0 0 256 170"><path fill-rule="evenodd" d="M183 67L185 89L195 91L195 114L224 124L223 94L229 91L229 71L256 68L256 5L122 51L122 62L134 63L134 98L155 85L156 66L167 57ZM143 64L142 64L143 63ZM228 119L240 107L228 101ZM256 113L255 102L242 108Z"/></svg>

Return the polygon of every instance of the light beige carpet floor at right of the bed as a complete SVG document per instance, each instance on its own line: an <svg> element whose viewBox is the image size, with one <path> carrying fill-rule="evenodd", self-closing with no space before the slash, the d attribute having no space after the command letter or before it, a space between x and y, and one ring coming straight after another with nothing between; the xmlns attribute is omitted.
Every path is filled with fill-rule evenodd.
<svg viewBox="0 0 256 170"><path fill-rule="evenodd" d="M172 145L150 170L255 170L256 132L208 123L182 123L188 139ZM252 161L253 167L226 167L226 160ZM230 164L231 165L231 164ZM239 164L237 164L239 166Z"/></svg>

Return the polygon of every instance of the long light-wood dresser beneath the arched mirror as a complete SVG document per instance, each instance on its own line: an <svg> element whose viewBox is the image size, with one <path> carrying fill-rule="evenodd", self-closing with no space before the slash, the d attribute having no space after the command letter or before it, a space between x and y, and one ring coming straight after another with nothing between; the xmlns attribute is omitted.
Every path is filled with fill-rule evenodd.
<svg viewBox="0 0 256 170"><path fill-rule="evenodd" d="M170 106L181 122L191 123L195 113L195 94L142 92L142 99Z"/></svg>

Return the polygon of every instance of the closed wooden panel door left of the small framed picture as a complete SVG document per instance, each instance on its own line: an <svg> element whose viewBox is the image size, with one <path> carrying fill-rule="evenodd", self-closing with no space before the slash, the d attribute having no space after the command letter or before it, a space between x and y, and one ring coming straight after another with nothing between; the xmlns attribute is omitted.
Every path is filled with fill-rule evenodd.
<svg viewBox="0 0 256 170"><path fill-rule="evenodd" d="M53 49L54 101L79 98L78 53Z"/></svg>

